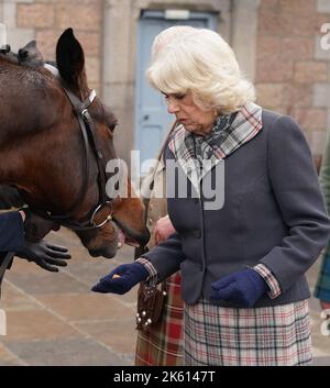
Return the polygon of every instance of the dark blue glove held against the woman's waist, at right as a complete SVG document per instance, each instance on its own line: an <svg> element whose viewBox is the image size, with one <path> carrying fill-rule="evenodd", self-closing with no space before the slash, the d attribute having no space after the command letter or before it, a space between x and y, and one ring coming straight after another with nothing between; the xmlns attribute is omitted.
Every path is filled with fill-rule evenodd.
<svg viewBox="0 0 330 388"><path fill-rule="evenodd" d="M257 271L251 268L239 270L212 282L210 300L226 300L238 307L251 308L270 290L268 285Z"/></svg>

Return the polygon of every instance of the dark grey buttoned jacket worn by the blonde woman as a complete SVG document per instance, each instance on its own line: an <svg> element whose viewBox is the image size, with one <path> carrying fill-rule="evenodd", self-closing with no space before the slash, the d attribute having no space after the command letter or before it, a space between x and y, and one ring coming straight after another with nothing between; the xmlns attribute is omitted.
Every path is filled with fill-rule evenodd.
<svg viewBox="0 0 330 388"><path fill-rule="evenodd" d="M310 149L289 117L263 110L263 130L224 159L224 203L206 210L202 193L168 198L177 231L143 256L160 279L182 270L187 303L209 298L211 284L246 266L264 264L282 293L262 297L255 307L275 306L310 296L305 273L326 246L330 233ZM174 159L167 147L165 162ZM219 174L217 167L209 174ZM167 181L172 177L167 176ZM189 198L190 197L190 198ZM220 301L220 306L232 306Z"/></svg>

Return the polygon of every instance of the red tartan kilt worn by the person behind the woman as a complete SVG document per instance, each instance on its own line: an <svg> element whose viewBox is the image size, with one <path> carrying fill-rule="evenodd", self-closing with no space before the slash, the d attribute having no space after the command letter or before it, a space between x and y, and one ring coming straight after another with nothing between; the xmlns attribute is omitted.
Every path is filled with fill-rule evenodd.
<svg viewBox="0 0 330 388"><path fill-rule="evenodd" d="M139 331L135 351L138 366L183 365L184 302L180 297L180 274L166 280L167 300L157 326Z"/></svg>

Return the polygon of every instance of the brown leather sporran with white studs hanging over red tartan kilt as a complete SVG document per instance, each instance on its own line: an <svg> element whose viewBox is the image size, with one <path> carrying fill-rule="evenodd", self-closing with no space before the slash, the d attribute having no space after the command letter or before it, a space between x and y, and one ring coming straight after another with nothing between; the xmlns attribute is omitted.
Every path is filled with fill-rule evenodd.
<svg viewBox="0 0 330 388"><path fill-rule="evenodd" d="M166 302L165 281L158 286L141 282L138 291L136 330L147 331L161 323L162 312Z"/></svg>

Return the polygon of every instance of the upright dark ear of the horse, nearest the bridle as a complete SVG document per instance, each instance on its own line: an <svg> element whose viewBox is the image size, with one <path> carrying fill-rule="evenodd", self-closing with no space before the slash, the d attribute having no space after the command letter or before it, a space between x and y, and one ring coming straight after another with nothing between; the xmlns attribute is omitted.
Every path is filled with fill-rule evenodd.
<svg viewBox="0 0 330 388"><path fill-rule="evenodd" d="M85 55L73 29L67 29L59 36L56 45L56 63L61 77L76 92L84 93L87 88Z"/></svg>

